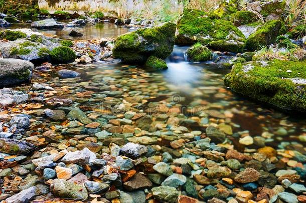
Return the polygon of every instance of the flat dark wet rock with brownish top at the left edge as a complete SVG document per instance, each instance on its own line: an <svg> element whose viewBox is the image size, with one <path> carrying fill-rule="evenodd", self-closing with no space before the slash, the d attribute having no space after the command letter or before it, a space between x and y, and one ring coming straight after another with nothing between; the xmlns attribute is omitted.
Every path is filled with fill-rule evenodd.
<svg viewBox="0 0 306 203"><path fill-rule="evenodd" d="M0 138L0 152L3 153L23 155L33 151L35 148L34 144L26 141Z"/></svg>

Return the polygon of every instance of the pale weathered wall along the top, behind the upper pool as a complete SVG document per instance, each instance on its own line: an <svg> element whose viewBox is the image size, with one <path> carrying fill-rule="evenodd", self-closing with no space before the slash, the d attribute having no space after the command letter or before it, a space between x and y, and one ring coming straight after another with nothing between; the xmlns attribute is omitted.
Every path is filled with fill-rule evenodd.
<svg viewBox="0 0 306 203"><path fill-rule="evenodd" d="M133 13L147 13L147 9L159 11L167 1L172 11L177 12L182 1L178 0L39 0L38 5L50 14L62 10L80 15L86 12L102 12L104 16L121 17Z"/></svg>

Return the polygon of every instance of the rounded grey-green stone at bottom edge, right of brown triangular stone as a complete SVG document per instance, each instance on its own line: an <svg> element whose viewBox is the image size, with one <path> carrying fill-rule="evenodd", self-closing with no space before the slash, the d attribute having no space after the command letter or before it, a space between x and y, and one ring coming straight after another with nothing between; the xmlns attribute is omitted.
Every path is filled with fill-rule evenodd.
<svg viewBox="0 0 306 203"><path fill-rule="evenodd" d="M159 186L152 188L153 196L161 201L168 201L171 203L177 202L179 192L175 187L171 186Z"/></svg>

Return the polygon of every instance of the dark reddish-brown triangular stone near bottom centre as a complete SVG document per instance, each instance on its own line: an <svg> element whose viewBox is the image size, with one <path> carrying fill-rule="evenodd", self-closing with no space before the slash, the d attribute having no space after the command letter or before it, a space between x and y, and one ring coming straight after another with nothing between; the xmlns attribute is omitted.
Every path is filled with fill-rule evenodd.
<svg viewBox="0 0 306 203"><path fill-rule="evenodd" d="M152 186L152 182L144 175L136 173L129 181L123 183L127 191L144 189Z"/></svg>

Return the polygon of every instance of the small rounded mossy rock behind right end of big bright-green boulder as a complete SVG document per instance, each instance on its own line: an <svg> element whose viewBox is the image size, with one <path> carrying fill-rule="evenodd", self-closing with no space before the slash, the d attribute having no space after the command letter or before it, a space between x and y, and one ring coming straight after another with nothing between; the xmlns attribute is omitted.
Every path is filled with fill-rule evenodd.
<svg viewBox="0 0 306 203"><path fill-rule="evenodd" d="M256 15L250 11L238 11L230 16L230 21L234 26L241 26L257 21Z"/></svg>

